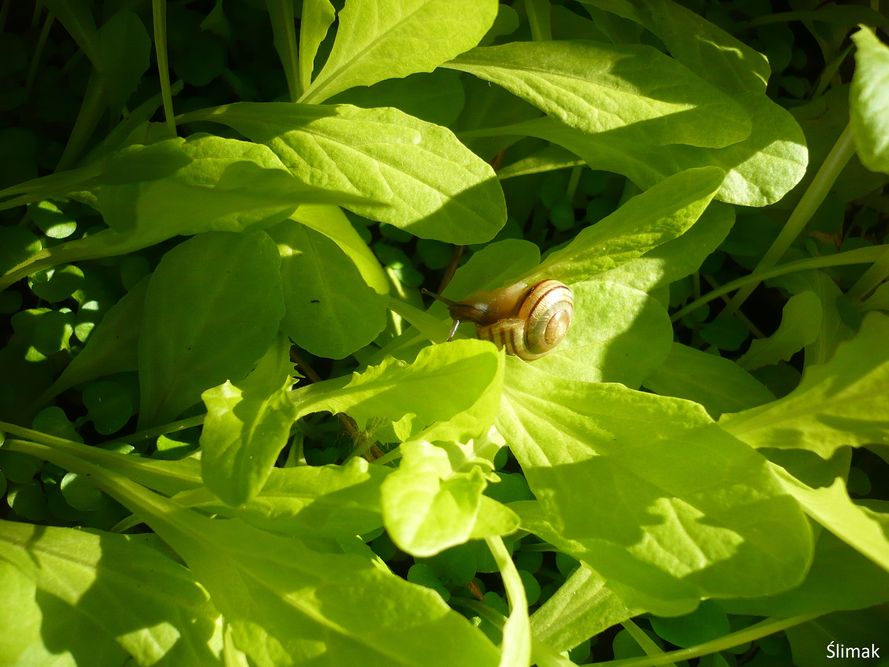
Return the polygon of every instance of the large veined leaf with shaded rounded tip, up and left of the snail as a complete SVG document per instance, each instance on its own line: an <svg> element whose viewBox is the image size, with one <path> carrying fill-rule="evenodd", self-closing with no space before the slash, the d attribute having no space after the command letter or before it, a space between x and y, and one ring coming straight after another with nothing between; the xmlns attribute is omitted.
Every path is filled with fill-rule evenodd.
<svg viewBox="0 0 889 667"><path fill-rule="evenodd" d="M194 112L267 144L312 188L421 238L489 241L506 221L489 164L450 130L397 109L240 102ZM356 203L356 197L376 202Z"/></svg>

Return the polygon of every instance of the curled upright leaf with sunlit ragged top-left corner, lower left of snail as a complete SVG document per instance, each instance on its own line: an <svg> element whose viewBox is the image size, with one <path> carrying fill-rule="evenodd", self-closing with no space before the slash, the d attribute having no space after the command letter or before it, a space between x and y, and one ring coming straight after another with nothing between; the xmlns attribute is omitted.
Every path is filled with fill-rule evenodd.
<svg viewBox="0 0 889 667"><path fill-rule="evenodd" d="M243 381L226 380L201 395L207 406L200 441L204 483L233 507L262 488L290 438L296 421L292 370L290 344L279 337Z"/></svg>

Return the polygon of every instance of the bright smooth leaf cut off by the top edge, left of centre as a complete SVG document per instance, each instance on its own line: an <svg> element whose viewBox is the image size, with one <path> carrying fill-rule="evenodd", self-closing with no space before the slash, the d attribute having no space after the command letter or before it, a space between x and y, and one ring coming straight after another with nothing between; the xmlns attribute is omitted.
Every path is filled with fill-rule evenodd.
<svg viewBox="0 0 889 667"><path fill-rule="evenodd" d="M300 101L431 72L478 44L496 16L494 0L349 0L330 56Z"/></svg>

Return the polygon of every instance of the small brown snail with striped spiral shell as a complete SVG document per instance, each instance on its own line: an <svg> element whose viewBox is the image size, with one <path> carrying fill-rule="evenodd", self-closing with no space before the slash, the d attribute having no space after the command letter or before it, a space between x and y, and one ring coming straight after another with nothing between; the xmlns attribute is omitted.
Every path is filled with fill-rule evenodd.
<svg viewBox="0 0 889 667"><path fill-rule="evenodd" d="M568 333L574 315L574 294L558 280L529 287L519 282L492 292L479 292L466 301L451 301L423 290L448 306L454 337L461 321L475 322L476 334L525 361L539 359Z"/></svg>

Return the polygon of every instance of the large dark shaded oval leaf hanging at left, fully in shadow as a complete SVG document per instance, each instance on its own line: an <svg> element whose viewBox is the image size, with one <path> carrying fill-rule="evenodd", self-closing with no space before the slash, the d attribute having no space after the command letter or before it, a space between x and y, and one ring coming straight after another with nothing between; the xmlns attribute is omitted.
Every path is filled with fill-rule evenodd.
<svg viewBox="0 0 889 667"><path fill-rule="evenodd" d="M283 315L278 266L262 232L201 234L164 255L139 337L140 424L173 419L205 389L246 375Z"/></svg>

